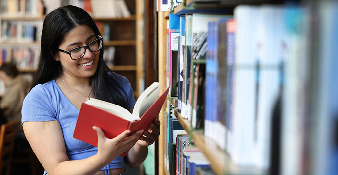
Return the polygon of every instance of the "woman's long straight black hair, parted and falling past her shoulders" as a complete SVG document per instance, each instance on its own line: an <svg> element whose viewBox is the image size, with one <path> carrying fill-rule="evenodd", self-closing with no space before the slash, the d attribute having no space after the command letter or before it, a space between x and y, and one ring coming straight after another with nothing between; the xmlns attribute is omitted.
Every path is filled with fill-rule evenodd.
<svg viewBox="0 0 338 175"><path fill-rule="evenodd" d="M101 35L91 16L76 6L67 5L57 8L45 17L41 34L41 53L38 69L30 89L61 75L61 64L59 61L54 60L53 56L59 54L57 48L59 48L68 32L79 25L87 25L96 35ZM97 70L91 77L91 87L95 98L130 110L127 99L124 98L124 95L127 97L127 93L114 78L108 75L109 71L111 70L103 61L103 49L101 49Z"/></svg>

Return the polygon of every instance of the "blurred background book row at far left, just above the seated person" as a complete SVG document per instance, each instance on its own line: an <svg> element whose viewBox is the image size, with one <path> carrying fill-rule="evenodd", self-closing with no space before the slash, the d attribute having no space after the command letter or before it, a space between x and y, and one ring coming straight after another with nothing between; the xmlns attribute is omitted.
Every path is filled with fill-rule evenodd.
<svg viewBox="0 0 338 175"><path fill-rule="evenodd" d="M18 69L36 68L38 49L30 47L0 48L0 65L5 62L14 63Z"/></svg>

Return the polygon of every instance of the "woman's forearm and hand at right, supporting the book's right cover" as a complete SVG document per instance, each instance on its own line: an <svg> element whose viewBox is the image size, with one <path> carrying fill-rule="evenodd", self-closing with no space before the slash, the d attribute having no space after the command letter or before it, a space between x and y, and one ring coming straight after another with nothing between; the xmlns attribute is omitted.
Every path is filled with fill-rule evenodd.
<svg viewBox="0 0 338 175"><path fill-rule="evenodd" d="M153 144L160 135L160 121L155 119L149 130L143 132L143 134L125 157L125 162L130 167L138 166L147 158L148 146Z"/></svg>

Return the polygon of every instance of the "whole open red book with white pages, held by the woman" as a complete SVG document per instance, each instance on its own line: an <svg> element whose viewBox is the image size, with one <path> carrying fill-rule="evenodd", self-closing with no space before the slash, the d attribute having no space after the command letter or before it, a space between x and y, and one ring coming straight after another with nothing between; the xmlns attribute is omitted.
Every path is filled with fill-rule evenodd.
<svg viewBox="0 0 338 175"><path fill-rule="evenodd" d="M131 133L148 130L158 117L167 97L169 87L159 96L160 83L154 82L137 99L130 113L127 109L105 101L90 98L80 107L73 137L97 146L97 134L93 126L100 127L107 138L114 138L125 130Z"/></svg>

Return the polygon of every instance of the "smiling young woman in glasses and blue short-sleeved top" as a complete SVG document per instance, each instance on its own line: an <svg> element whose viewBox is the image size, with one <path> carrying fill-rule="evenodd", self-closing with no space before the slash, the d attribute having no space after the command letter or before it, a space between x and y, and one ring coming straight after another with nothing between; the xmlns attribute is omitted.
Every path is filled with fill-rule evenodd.
<svg viewBox="0 0 338 175"><path fill-rule="evenodd" d="M155 120L148 131L129 136L126 130L113 139L93 127L98 147L72 137L80 105L87 97L129 110L135 104L129 81L109 70L102 47L99 30L81 8L64 6L45 17L37 75L22 108L26 138L45 174L125 174L125 163L131 167L142 163L147 146L160 134L160 122ZM119 156L129 149L127 156Z"/></svg>

